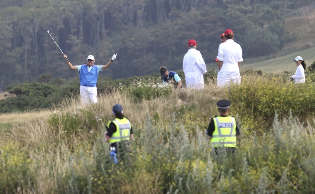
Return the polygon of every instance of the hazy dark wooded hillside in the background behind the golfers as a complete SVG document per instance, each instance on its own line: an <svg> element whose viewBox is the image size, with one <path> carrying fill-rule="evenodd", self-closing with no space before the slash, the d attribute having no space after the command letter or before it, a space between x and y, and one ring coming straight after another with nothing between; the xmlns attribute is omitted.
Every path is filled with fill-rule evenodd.
<svg viewBox="0 0 315 194"><path fill-rule="evenodd" d="M6 85L78 77L68 70L54 37L73 65L89 54L112 79L180 69L187 42L195 39L206 63L230 28L244 57L270 54L293 38L284 15L313 0L0 0L0 91ZM268 24L268 28L263 28Z"/></svg>

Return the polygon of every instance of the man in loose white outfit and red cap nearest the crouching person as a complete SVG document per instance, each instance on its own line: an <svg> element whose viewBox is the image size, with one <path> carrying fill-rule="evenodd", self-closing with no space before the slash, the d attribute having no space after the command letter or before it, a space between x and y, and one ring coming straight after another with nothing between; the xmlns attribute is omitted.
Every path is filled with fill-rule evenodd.
<svg viewBox="0 0 315 194"><path fill-rule="evenodd" d="M183 70L185 73L186 86L189 88L205 88L204 75L207 72L205 61L197 49L195 40L188 41L188 51L184 56Z"/></svg>

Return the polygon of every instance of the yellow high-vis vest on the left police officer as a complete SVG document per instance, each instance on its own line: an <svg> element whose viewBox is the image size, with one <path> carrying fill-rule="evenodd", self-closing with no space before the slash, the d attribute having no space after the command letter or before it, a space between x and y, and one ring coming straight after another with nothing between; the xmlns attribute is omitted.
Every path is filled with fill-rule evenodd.
<svg viewBox="0 0 315 194"><path fill-rule="evenodd" d="M115 118L107 125L110 128L110 123L113 122L116 125L116 132L114 132L110 138L109 143L116 143L122 140L129 140L131 123L125 117L123 119Z"/></svg>

